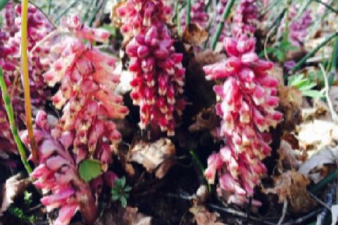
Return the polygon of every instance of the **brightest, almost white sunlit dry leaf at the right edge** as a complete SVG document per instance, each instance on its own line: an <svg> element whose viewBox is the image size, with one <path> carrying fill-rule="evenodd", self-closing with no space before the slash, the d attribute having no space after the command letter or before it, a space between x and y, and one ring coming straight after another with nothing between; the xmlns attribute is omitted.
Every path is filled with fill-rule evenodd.
<svg viewBox="0 0 338 225"><path fill-rule="evenodd" d="M304 150L320 150L338 140L338 124L315 119L301 123L298 130L299 146Z"/></svg>

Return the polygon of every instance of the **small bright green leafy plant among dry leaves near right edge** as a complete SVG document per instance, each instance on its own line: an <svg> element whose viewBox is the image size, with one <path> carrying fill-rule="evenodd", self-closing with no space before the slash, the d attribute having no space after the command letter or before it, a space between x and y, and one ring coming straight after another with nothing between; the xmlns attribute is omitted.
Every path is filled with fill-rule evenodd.
<svg viewBox="0 0 338 225"><path fill-rule="evenodd" d="M317 83L311 77L305 77L303 73L291 75L287 78L287 85L300 90L303 96L321 98L324 97L324 90L313 90Z"/></svg>

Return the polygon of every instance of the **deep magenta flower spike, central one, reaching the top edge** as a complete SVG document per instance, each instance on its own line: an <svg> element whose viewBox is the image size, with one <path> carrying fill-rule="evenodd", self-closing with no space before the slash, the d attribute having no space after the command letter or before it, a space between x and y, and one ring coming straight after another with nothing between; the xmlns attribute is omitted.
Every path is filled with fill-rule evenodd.
<svg viewBox="0 0 338 225"><path fill-rule="evenodd" d="M184 73L182 54L175 53L165 25L171 9L156 0L128 0L118 8L123 18L121 32L132 37L126 52L133 74L130 96L140 107L140 128L150 123L174 135L175 116L185 107L182 98Z"/></svg>

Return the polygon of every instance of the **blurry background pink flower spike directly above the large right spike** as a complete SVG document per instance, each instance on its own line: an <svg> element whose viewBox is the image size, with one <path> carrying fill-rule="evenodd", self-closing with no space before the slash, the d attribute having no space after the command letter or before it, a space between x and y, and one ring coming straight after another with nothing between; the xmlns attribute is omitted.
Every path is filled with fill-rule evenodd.
<svg viewBox="0 0 338 225"><path fill-rule="evenodd" d="M234 12L232 33L234 35L253 35L256 27L253 25L258 17L256 0L241 0Z"/></svg>

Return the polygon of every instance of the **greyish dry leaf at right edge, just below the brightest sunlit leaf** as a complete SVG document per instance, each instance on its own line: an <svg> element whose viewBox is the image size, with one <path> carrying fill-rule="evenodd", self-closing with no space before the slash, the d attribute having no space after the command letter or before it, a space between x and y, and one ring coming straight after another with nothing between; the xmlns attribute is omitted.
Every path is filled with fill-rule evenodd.
<svg viewBox="0 0 338 225"><path fill-rule="evenodd" d="M323 147L316 154L313 154L310 159L304 162L299 168L299 173L308 176L315 183L323 179L323 166L328 164L337 165L338 163L338 147Z"/></svg>

